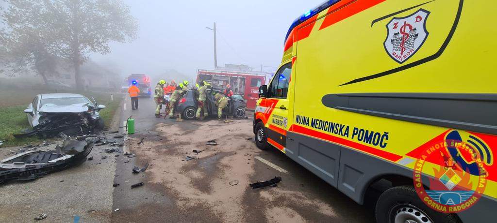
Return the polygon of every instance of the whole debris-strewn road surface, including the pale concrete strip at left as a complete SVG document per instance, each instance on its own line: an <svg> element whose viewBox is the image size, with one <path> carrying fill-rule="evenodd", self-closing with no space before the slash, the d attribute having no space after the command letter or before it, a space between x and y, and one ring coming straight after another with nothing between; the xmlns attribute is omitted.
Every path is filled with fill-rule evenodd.
<svg viewBox="0 0 497 223"><path fill-rule="evenodd" d="M99 146L78 167L0 185L0 222L36 222L40 213L47 218L38 222L374 222L373 205L358 205L276 149L259 150L251 118L176 122L155 118L152 99L139 104L132 111L126 98L118 112L119 125L136 120L123 148L133 155ZM212 139L218 145L205 145ZM2 148L0 158L16 149ZM276 187L249 187L275 176Z"/></svg>

